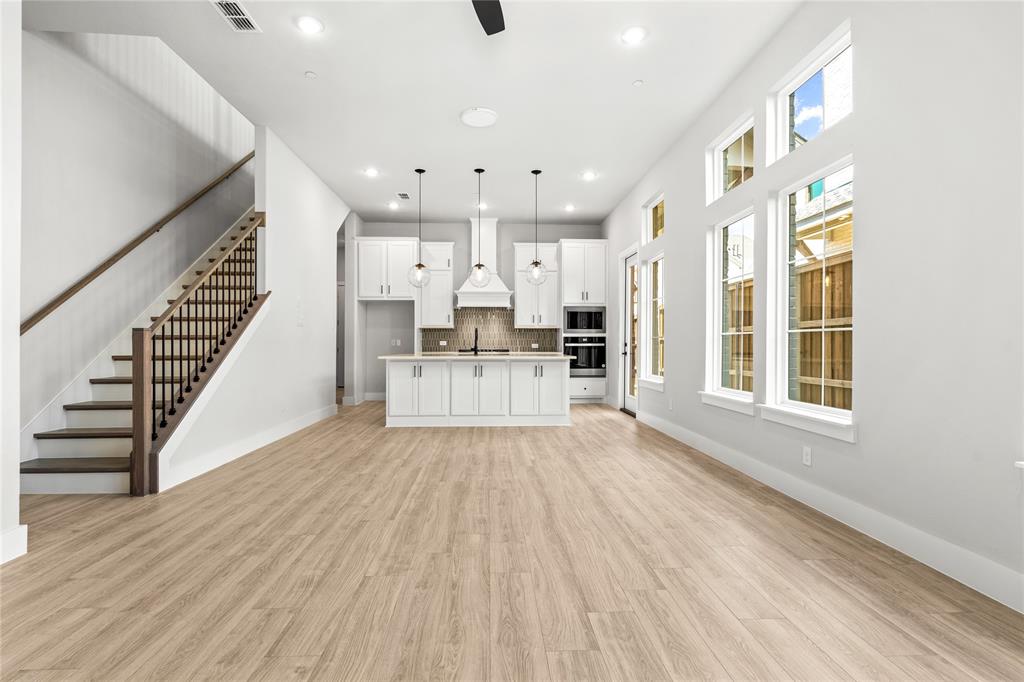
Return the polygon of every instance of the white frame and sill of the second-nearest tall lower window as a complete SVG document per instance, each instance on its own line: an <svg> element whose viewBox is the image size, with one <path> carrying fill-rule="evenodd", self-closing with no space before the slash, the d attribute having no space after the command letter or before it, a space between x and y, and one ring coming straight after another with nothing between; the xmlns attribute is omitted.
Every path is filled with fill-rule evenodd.
<svg viewBox="0 0 1024 682"><path fill-rule="evenodd" d="M708 323L707 323L707 363L705 372L705 390L700 391L700 398L706 404L733 410L746 415L754 414L754 391L756 386L752 385L751 390L737 390L722 385L722 295L724 272L722 269L722 236L726 227L734 225L746 218L754 218L755 235L757 233L757 213L753 205L736 213L729 218L716 223L709 228L708 232ZM757 239L755 238L755 249L751 255L757 262ZM744 268L745 269L745 268ZM757 307L758 297L761 287L757 284L756 267L752 270L754 285L754 304ZM752 321L753 323L753 321ZM752 329L751 338L754 341L752 347L757 353L758 338L756 325ZM757 365L755 364L754 381L757 381Z"/></svg>

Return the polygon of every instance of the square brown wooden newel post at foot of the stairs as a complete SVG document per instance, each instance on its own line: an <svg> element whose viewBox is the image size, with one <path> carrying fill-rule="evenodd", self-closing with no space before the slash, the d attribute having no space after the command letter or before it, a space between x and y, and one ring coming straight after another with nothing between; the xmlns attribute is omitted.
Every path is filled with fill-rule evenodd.
<svg viewBox="0 0 1024 682"><path fill-rule="evenodd" d="M133 496L150 493L150 452L157 437L156 403L153 399L155 343L147 329L131 332L132 449L128 461L128 489Z"/></svg>

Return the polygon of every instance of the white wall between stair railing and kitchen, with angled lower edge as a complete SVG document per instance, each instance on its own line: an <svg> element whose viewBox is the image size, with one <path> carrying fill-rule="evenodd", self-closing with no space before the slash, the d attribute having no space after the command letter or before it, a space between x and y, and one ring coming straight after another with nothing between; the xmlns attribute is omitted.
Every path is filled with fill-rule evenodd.
<svg viewBox="0 0 1024 682"><path fill-rule="evenodd" d="M348 207L271 130L257 128L256 150L264 155L256 209L266 211L261 251L272 294L231 366L201 396L204 409L189 412L160 453L161 489L336 411L337 233Z"/></svg>

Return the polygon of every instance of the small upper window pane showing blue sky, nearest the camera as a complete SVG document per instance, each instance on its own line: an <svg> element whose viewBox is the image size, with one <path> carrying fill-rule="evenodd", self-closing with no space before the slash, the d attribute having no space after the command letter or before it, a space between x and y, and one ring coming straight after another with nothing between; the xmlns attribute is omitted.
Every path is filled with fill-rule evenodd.
<svg viewBox="0 0 1024 682"><path fill-rule="evenodd" d="M790 92L788 100L790 151L846 118L853 111L853 49L849 44Z"/></svg>

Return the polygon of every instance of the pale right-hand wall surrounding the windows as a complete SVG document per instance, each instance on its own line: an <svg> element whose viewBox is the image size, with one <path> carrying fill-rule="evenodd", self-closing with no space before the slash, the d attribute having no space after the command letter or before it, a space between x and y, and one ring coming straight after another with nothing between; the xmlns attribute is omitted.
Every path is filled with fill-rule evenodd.
<svg viewBox="0 0 1024 682"><path fill-rule="evenodd" d="M765 168L765 99L851 19L854 113ZM1022 483L1022 17L1011 3L808 3L604 223L610 253L666 195L665 392L642 420L1024 609ZM753 180L706 207L706 146L756 118ZM846 154L856 166L854 415L848 444L701 403L706 236L756 208L755 398L766 364L769 197ZM1009 200L1009 201L1007 201ZM609 264L620 283L618 262ZM609 333L621 339L615 300ZM609 377L621 395L618 355ZM801 465L801 449L814 465Z"/></svg>

